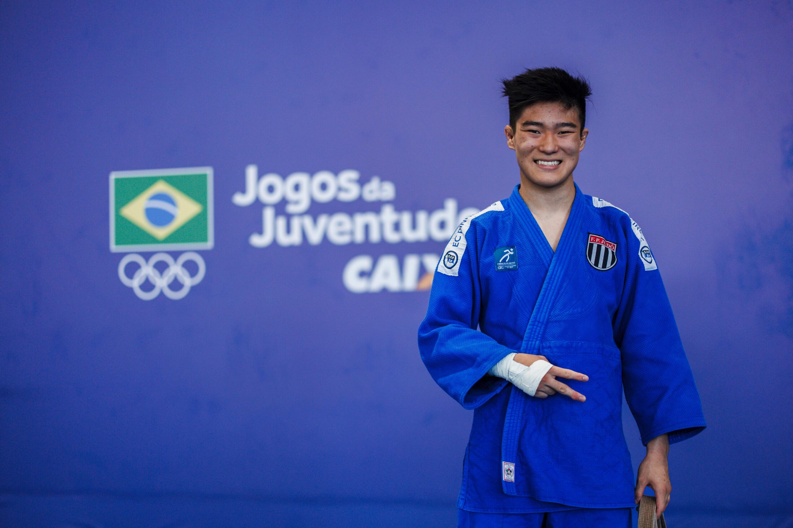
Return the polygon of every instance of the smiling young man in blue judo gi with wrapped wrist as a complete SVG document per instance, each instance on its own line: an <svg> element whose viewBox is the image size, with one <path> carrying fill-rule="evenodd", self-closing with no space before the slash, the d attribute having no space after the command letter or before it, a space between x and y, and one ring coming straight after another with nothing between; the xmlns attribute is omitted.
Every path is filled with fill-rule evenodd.
<svg viewBox="0 0 793 528"><path fill-rule="evenodd" d="M458 226L419 328L432 378L475 409L458 526L630 527L646 485L664 511L699 393L642 230L573 182L588 83L540 68L504 95L520 183ZM623 389L647 447L635 485Z"/></svg>

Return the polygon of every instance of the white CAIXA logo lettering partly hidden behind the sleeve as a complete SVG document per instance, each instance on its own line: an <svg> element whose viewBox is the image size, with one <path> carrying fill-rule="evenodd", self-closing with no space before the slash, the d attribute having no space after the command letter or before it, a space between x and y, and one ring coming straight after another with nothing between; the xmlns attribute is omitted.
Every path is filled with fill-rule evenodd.
<svg viewBox="0 0 793 528"><path fill-rule="evenodd" d="M356 294L429 290L438 260L436 253L413 253L401 261L397 255L358 255L344 267L342 280Z"/></svg>

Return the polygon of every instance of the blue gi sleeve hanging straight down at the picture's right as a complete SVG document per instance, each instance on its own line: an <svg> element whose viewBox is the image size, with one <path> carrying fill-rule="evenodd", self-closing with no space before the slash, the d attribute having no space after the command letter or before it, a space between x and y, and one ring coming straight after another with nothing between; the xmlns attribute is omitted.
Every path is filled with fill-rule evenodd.
<svg viewBox="0 0 793 528"><path fill-rule="evenodd" d="M702 403L655 257L628 220L626 282L615 318L625 398L644 445L665 433L676 443L705 428Z"/></svg>

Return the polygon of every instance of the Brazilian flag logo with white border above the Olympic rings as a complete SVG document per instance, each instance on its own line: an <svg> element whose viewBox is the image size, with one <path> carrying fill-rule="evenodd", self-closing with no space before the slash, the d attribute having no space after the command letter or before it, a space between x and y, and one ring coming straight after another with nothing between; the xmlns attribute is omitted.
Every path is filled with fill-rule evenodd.
<svg viewBox="0 0 793 528"><path fill-rule="evenodd" d="M212 167L110 173L110 251L211 249Z"/></svg>

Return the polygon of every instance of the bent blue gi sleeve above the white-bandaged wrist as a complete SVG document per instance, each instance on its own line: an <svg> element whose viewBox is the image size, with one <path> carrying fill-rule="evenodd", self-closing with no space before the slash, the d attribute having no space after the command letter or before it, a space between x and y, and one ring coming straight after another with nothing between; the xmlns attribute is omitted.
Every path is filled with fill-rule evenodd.
<svg viewBox="0 0 793 528"><path fill-rule="evenodd" d="M508 385L487 372L515 352L477 330L481 310L477 232L472 222L456 276L436 268L427 317L419 326L424 365L435 382L467 409L479 407ZM442 265L443 257L438 267Z"/></svg>

